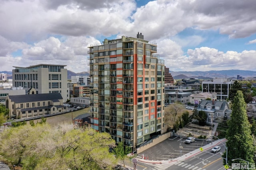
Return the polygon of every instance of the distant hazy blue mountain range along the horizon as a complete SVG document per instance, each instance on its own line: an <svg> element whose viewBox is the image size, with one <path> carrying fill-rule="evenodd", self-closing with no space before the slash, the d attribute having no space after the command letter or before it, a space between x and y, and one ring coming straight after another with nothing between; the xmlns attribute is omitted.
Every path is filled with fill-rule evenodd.
<svg viewBox="0 0 256 170"><path fill-rule="evenodd" d="M11 71L0 71L6 73L8 79L12 79ZM212 79L212 78L237 78L237 75L246 77L256 77L256 71L250 70L211 70L211 71L170 71L175 80L183 78L199 78L199 79ZM89 72L75 73L68 70L68 79L71 76L88 76Z"/></svg>

